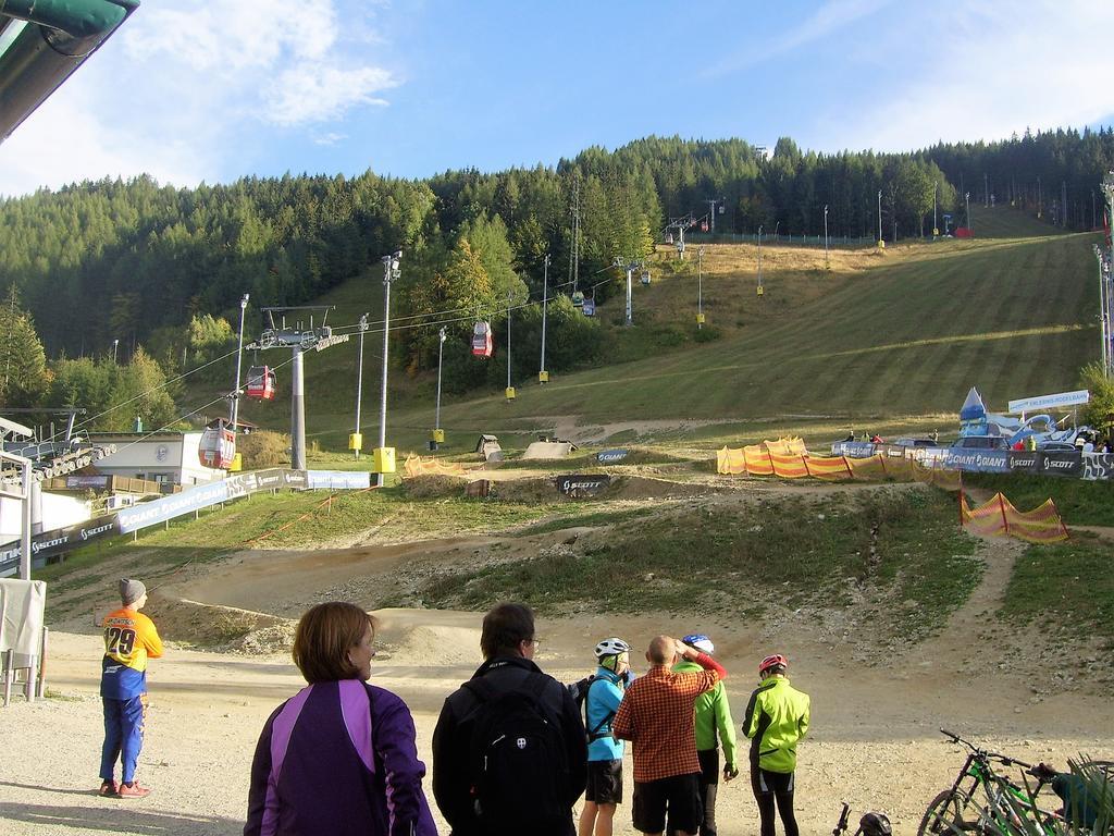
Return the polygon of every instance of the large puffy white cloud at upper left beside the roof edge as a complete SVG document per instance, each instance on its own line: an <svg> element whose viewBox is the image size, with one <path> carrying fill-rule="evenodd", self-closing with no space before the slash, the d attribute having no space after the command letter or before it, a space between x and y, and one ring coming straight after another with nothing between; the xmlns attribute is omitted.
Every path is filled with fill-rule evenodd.
<svg viewBox="0 0 1114 836"><path fill-rule="evenodd" d="M267 126L334 127L384 105L399 81L374 61L373 37L383 48L370 10L359 0L145 0L0 148L0 194L141 173L175 185L227 179L241 173L225 167L228 149L272 142Z"/></svg>

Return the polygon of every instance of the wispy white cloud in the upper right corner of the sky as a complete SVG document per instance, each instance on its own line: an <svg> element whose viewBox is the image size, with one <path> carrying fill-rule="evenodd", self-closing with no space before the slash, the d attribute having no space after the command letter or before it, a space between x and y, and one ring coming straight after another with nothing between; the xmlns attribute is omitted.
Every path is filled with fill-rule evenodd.
<svg viewBox="0 0 1114 836"><path fill-rule="evenodd" d="M965 9L930 38L932 54L912 82L833 116L813 132L814 147L903 150L937 139L1006 139L1033 130L1082 127L1114 110L1103 90L1114 77L1107 38L1114 7L1086 0L1013 2ZM846 113L846 108L844 108Z"/></svg>

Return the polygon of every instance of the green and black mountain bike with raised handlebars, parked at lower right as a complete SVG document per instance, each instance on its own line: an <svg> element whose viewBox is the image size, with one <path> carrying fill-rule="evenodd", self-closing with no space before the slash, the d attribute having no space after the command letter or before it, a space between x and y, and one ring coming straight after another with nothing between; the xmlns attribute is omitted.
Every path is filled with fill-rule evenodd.
<svg viewBox="0 0 1114 836"><path fill-rule="evenodd" d="M1043 770L1035 770L1033 764L1024 760L977 747L947 729L940 729L940 733L954 743L966 746L970 754L951 789L944 790L928 805L917 836L951 833L980 836L1044 833L1053 836L1063 832L1063 819L1036 803L1040 789L1049 782ZM995 771L995 765L1020 768L1033 776L1036 784L1023 787ZM1023 817L1026 822L1022 822Z"/></svg>

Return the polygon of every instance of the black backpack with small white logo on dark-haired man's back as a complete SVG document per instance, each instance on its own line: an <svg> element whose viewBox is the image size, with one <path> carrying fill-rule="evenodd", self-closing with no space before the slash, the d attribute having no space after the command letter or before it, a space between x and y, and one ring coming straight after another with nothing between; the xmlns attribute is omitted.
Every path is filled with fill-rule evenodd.
<svg viewBox="0 0 1114 836"><path fill-rule="evenodd" d="M465 683L479 700L470 743L471 790L485 834L555 833L571 822L568 762L560 723L530 673L501 691L486 678Z"/></svg>

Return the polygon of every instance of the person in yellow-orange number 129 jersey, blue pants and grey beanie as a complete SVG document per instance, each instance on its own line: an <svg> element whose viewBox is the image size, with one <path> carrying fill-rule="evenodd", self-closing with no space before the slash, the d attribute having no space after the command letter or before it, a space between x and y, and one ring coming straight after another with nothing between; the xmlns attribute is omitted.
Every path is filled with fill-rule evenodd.
<svg viewBox="0 0 1114 836"><path fill-rule="evenodd" d="M105 706L105 746L100 754L100 795L143 798L150 794L135 779L147 716L147 660L163 655L155 622L139 612L147 603L140 581L120 581L119 610L105 616L105 658L100 698ZM120 782L114 777L120 760Z"/></svg>

